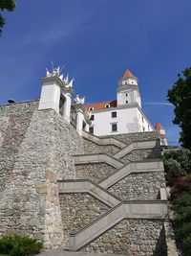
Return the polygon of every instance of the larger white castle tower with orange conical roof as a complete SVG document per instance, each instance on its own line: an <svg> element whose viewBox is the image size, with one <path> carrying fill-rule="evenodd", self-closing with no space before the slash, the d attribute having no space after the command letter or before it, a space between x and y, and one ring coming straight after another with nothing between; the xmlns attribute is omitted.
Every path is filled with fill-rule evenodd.
<svg viewBox="0 0 191 256"><path fill-rule="evenodd" d="M127 69L118 80L117 106L136 103L141 108L138 79Z"/></svg>

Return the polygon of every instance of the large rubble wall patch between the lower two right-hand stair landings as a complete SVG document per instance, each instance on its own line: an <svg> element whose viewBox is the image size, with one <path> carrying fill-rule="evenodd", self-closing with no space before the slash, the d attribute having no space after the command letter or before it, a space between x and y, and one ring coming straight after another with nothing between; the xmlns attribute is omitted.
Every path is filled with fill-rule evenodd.
<svg viewBox="0 0 191 256"><path fill-rule="evenodd" d="M131 174L108 190L121 199L157 199L159 188L165 188L163 172Z"/></svg>

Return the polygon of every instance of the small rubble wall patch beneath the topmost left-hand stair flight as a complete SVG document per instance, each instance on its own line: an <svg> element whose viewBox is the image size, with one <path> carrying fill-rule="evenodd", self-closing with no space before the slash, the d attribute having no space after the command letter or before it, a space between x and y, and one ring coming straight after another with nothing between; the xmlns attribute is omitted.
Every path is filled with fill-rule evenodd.
<svg viewBox="0 0 191 256"><path fill-rule="evenodd" d="M95 142L83 138L84 153L107 153L109 155L115 154L120 150L115 145L98 145Z"/></svg>

